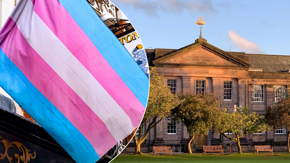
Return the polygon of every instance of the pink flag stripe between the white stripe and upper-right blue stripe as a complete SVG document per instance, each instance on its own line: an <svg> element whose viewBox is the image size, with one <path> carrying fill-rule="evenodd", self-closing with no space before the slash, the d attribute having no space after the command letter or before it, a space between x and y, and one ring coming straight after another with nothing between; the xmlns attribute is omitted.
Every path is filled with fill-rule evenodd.
<svg viewBox="0 0 290 163"><path fill-rule="evenodd" d="M138 127L145 107L59 1L37 0L34 11L124 110L133 126ZM115 91L111 91L112 89Z"/></svg>

